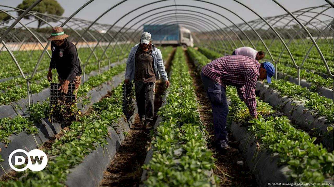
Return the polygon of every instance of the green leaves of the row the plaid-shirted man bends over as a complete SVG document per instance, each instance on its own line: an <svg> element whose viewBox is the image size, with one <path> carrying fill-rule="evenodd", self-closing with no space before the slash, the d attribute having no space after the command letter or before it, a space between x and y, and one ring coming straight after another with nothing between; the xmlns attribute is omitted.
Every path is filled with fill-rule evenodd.
<svg viewBox="0 0 334 187"><path fill-rule="evenodd" d="M323 183L334 176L334 155L322 145L315 144L316 137L295 129L288 117L251 119L248 108L237 96L236 89L228 87L226 95L231 100L229 118L237 123L249 125L259 149L269 149L279 154L278 166L287 165L286 174L293 183ZM273 112L272 107L258 98L258 112L261 115ZM322 185L326 186L326 185Z"/></svg>

